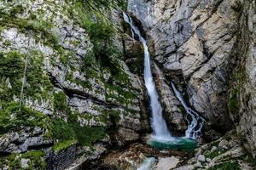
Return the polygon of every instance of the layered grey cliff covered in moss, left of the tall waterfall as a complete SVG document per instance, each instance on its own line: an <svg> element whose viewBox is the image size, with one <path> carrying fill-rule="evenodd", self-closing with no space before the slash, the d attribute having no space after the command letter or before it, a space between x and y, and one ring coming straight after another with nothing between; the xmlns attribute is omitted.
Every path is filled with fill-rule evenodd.
<svg viewBox="0 0 256 170"><path fill-rule="evenodd" d="M126 2L90 5L0 2L1 169L37 168L41 154L45 167L63 169L148 130L141 75L127 66L137 56L121 17Z"/></svg>

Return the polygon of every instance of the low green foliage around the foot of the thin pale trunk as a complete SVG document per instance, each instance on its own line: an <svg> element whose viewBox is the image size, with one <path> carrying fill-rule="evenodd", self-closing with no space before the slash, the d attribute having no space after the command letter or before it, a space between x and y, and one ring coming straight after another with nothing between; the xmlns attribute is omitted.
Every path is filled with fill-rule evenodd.
<svg viewBox="0 0 256 170"><path fill-rule="evenodd" d="M18 103L9 103L0 110L0 134L10 131L18 131L22 127L44 127L47 128L49 117L33 111L27 107L21 107Z"/></svg>

